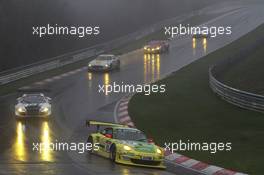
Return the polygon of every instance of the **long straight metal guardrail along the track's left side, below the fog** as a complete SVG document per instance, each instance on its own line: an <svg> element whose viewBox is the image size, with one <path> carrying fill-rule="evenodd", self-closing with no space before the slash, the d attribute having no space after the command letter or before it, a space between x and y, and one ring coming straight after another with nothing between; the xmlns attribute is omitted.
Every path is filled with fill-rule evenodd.
<svg viewBox="0 0 264 175"><path fill-rule="evenodd" d="M8 83L11 83L13 81L26 78L38 73L42 73L45 71L49 71L55 68L59 68L68 64L72 64L84 59L88 59L91 57L94 57L96 55L99 55L101 53L109 52L115 48L118 48L126 43L129 43L131 41L136 41L141 38L143 38L146 35L149 35L153 32L156 32L158 30L161 30L164 25L169 25L171 23L179 22L181 19L185 19L191 16L194 16L193 14L184 14L181 16L178 16L176 18L167 19L164 21L161 21L159 23L153 24L150 27L141 29L137 32L128 34L124 37L120 37L118 39L98 44L90 48L70 52L64 55L60 55L57 57L53 57L50 59L46 59L37 63L33 63L30 65L10 69L7 71L0 72L0 85L5 85Z"/></svg>

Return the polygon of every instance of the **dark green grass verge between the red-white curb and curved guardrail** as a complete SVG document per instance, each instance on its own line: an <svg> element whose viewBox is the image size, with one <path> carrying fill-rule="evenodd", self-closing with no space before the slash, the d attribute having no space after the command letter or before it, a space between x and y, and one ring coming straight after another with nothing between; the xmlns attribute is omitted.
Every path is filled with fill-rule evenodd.
<svg viewBox="0 0 264 175"><path fill-rule="evenodd" d="M159 81L166 84L166 94L135 95L129 103L129 114L136 126L160 145L179 140L232 142L228 152L181 153L232 170L263 174L263 114L226 103L208 85L210 65L236 55L263 36L263 31L264 25Z"/></svg>

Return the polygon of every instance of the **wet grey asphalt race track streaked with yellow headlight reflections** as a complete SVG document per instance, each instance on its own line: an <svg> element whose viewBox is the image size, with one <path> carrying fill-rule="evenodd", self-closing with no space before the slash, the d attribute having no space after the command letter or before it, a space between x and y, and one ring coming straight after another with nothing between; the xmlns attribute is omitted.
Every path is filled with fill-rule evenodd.
<svg viewBox="0 0 264 175"><path fill-rule="evenodd" d="M33 151L33 142L85 142L93 130L85 120L114 122L116 102L126 93L99 93L98 85L144 84L179 70L202 56L224 46L264 21L263 4L230 3L210 7L204 13L222 13L208 22L214 26L232 26L231 36L210 38L193 43L190 36L171 41L169 53L144 56L136 50L121 56L121 70L87 73L86 70L54 82L38 85L50 89L53 114L49 121L16 121L14 103L18 94L0 98L0 174L146 174L166 175L168 171L123 166L95 155L77 151ZM32 85L35 87L37 85ZM169 168L170 169L170 168ZM186 174L179 170L177 174Z"/></svg>

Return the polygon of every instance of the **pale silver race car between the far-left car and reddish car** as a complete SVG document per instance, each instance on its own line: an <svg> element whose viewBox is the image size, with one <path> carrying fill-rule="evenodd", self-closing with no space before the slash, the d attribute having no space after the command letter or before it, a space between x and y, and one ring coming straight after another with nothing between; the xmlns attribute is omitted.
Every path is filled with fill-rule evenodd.
<svg viewBox="0 0 264 175"><path fill-rule="evenodd" d="M110 71L120 69L120 60L115 55L99 55L88 64L88 71Z"/></svg>

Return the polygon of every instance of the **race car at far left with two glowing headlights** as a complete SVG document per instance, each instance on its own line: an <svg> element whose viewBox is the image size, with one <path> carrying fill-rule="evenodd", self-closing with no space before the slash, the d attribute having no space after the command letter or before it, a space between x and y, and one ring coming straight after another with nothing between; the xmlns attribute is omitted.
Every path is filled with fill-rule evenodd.
<svg viewBox="0 0 264 175"><path fill-rule="evenodd" d="M23 94L17 98L15 114L23 117L48 117L51 115L51 98L42 93Z"/></svg>

